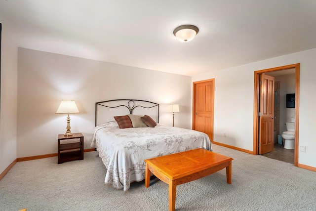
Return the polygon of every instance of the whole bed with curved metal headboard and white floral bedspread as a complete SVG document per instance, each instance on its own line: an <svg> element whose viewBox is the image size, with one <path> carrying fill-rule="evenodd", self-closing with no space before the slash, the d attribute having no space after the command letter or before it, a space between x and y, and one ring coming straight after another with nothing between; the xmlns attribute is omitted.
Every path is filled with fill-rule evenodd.
<svg viewBox="0 0 316 211"><path fill-rule="evenodd" d="M121 124L114 117L126 115L133 120L133 126L119 128ZM134 127L137 125L133 118L139 121L138 118L145 116L156 126ZM196 148L212 151L205 133L159 124L159 104L154 102L125 99L97 102L95 119L91 147L99 152L107 169L105 183L124 191L131 182L145 179L145 159Z"/></svg>

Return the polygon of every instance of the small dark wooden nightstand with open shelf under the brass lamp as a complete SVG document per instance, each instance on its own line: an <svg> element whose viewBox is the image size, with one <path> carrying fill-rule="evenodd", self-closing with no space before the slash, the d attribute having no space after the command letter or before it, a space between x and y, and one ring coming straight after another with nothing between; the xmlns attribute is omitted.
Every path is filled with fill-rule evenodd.
<svg viewBox="0 0 316 211"><path fill-rule="evenodd" d="M81 132L72 136L58 135L58 164L67 161L83 160L83 135Z"/></svg>

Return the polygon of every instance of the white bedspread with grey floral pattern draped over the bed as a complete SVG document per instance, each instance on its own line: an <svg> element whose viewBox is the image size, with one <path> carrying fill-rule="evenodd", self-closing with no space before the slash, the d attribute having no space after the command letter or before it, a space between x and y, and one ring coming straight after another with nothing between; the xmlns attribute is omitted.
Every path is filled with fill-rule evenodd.
<svg viewBox="0 0 316 211"><path fill-rule="evenodd" d="M196 148L212 151L208 136L196 130L161 124L120 129L116 122L95 127L91 147L107 168L105 183L124 191L145 179L145 159Z"/></svg>

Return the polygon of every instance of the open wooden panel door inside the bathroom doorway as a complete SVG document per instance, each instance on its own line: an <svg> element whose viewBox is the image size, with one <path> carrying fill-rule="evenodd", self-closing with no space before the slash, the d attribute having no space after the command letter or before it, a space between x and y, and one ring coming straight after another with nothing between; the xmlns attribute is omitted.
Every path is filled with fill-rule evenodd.
<svg viewBox="0 0 316 211"><path fill-rule="evenodd" d="M259 108L259 154L273 151L275 78L261 74Z"/></svg>

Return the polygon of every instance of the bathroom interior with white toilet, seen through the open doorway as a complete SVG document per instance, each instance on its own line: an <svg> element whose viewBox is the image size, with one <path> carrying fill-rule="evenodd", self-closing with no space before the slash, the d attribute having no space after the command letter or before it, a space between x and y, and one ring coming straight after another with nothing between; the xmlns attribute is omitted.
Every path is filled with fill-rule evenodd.
<svg viewBox="0 0 316 211"><path fill-rule="evenodd" d="M266 75L275 77L274 151L262 156L294 164L295 69Z"/></svg>

